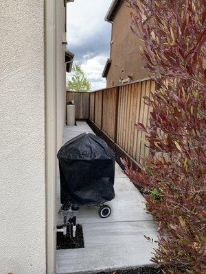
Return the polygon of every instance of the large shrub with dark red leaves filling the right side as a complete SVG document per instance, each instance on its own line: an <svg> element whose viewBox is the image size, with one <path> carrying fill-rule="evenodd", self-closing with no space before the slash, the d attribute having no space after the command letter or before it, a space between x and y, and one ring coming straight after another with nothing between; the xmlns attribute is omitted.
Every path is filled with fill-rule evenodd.
<svg viewBox="0 0 206 274"><path fill-rule="evenodd" d="M124 161L125 172L150 193L146 208L159 223L152 261L165 273L206 273L206 0L127 2L155 93L146 99L150 156L140 172Z"/></svg>

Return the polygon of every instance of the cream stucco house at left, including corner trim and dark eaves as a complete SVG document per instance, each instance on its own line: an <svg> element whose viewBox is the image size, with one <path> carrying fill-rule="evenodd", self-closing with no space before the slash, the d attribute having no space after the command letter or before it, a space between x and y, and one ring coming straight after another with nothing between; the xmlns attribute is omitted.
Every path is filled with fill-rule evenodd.
<svg viewBox="0 0 206 274"><path fill-rule="evenodd" d="M2 274L56 273L56 151L73 60L66 39L72 1L1 1Z"/></svg>

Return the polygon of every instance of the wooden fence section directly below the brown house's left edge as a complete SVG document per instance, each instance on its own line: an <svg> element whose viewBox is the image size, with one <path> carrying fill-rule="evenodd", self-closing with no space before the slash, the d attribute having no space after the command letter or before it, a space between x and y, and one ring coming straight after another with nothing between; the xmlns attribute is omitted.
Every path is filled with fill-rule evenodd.
<svg viewBox="0 0 206 274"><path fill-rule="evenodd" d="M108 90L104 90L102 130L112 140L114 140L115 138L115 114L117 111L116 97L117 88L110 88Z"/></svg>

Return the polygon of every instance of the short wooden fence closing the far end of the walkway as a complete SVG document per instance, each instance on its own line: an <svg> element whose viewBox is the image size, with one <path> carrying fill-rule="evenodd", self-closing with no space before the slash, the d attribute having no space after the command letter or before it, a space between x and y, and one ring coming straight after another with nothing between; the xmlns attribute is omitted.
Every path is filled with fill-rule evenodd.
<svg viewBox="0 0 206 274"><path fill-rule="evenodd" d="M90 92L72 92L67 90L67 103L71 101L76 105L76 120L89 119L89 95Z"/></svg>

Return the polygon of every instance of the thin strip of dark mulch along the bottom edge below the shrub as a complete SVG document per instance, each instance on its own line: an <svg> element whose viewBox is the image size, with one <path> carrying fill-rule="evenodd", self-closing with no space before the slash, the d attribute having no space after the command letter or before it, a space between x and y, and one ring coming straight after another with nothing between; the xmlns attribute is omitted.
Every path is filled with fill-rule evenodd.
<svg viewBox="0 0 206 274"><path fill-rule="evenodd" d="M93 274L161 274L161 269L155 267L143 267L136 269L125 269L125 270L116 270L108 272L98 272Z"/></svg>

